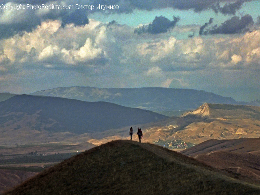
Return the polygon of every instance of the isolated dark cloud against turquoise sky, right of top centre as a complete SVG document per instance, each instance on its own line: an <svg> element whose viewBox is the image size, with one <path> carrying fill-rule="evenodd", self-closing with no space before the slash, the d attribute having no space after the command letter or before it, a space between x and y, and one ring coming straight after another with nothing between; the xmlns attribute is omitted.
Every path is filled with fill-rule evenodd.
<svg viewBox="0 0 260 195"><path fill-rule="evenodd" d="M151 34L166 33L169 29L173 28L179 20L180 18L175 16L173 16L173 21L170 21L164 16L156 16L152 23L143 25L135 29L134 32L137 34L142 34L144 32Z"/></svg>

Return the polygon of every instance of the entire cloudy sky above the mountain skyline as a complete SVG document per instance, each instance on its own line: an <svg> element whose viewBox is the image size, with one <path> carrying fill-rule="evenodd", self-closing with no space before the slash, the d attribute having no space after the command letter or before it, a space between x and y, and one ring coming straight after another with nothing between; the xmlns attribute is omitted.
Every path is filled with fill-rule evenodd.
<svg viewBox="0 0 260 195"><path fill-rule="evenodd" d="M259 10L259 0L1 0L0 92L166 87L260 99Z"/></svg>

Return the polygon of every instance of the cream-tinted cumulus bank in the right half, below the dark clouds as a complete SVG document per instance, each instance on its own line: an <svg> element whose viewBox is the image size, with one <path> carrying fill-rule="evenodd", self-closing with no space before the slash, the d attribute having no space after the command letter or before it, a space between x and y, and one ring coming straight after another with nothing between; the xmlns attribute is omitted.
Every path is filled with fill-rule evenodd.
<svg viewBox="0 0 260 195"><path fill-rule="evenodd" d="M174 37L138 44L142 62L161 69L161 74L207 69L243 70L260 68L260 30L234 37ZM227 49L228 48L228 49ZM260 70L260 69L259 69Z"/></svg>

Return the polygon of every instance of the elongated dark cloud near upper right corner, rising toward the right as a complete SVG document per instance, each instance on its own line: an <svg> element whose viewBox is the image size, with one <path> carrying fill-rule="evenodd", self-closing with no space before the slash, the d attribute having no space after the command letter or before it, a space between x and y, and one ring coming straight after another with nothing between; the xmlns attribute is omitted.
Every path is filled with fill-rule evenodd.
<svg viewBox="0 0 260 195"><path fill-rule="evenodd" d="M211 29L207 29L205 31L204 28L207 26L203 25L200 27L200 35L206 35L206 34L235 34L235 33L241 33L243 31L249 31L248 28L250 25L254 23L252 16L245 15L242 16L241 19L238 16L234 16L231 19L225 21L220 26L215 25L211 27Z"/></svg>

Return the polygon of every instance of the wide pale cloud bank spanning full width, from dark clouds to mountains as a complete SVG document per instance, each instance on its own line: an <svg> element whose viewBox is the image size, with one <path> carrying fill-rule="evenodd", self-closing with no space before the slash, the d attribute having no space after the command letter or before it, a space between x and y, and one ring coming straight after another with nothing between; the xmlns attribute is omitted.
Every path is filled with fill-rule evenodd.
<svg viewBox="0 0 260 195"><path fill-rule="evenodd" d="M221 84L232 91L233 80L243 74L245 81L259 86L259 29L232 36L174 36L191 29L198 32L199 26L177 25L171 33L138 35L134 27L113 21L89 19L86 25L65 26L61 20L41 21L30 32L0 40L2 86L33 92L75 85L211 90Z"/></svg>

